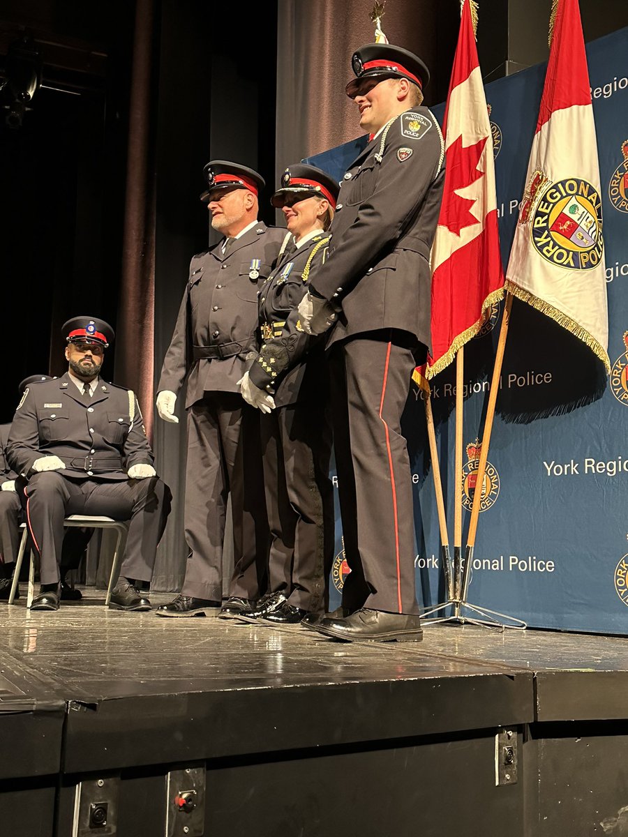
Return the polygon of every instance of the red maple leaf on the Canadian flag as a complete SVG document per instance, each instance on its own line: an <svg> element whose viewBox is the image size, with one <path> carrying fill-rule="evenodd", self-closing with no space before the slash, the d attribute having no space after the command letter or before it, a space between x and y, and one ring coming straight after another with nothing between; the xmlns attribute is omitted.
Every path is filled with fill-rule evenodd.
<svg viewBox="0 0 628 837"><path fill-rule="evenodd" d="M475 146L462 146L462 136L452 142L447 150L447 167L445 169L445 187L443 189L443 203L440 205L439 225L450 229L452 233L460 235L463 227L470 227L480 218L471 214L471 207L475 200L461 198L456 190L471 186L484 172L479 172L477 164L480 162L482 151L486 145L487 136L476 142Z"/></svg>

